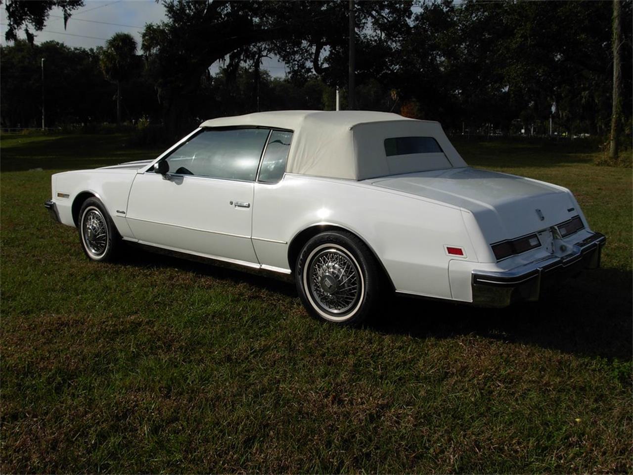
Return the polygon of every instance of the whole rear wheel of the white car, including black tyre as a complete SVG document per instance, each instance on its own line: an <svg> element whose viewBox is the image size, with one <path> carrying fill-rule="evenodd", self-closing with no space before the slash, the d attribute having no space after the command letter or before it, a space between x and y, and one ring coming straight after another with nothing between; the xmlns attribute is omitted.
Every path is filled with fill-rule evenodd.
<svg viewBox="0 0 633 475"><path fill-rule="evenodd" d="M303 246L295 281L308 312L337 324L360 324L375 310L381 290L371 251L342 231L322 232Z"/></svg>

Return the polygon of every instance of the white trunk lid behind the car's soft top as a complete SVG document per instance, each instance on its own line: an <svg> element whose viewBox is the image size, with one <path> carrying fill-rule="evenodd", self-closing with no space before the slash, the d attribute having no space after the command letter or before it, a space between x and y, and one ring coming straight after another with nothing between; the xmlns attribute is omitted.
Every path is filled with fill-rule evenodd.
<svg viewBox="0 0 633 475"><path fill-rule="evenodd" d="M477 168L398 175L372 184L467 210L488 243L540 231L580 214L564 188Z"/></svg>

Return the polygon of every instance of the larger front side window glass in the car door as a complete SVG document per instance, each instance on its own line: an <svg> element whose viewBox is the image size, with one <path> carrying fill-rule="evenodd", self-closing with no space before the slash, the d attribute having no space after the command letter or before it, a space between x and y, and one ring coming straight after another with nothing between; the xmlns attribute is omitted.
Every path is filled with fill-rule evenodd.
<svg viewBox="0 0 633 475"><path fill-rule="evenodd" d="M166 158L169 171L254 181L268 132L268 129L203 130Z"/></svg>

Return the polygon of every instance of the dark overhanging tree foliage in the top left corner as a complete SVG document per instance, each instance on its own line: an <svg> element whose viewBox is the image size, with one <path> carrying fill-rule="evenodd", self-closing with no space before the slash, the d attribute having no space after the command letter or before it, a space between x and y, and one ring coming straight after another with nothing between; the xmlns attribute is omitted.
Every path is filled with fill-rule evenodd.
<svg viewBox="0 0 633 475"><path fill-rule="evenodd" d="M2 1L0 0L0 4ZM4 39L16 41L18 31L24 27L29 44L33 44L35 35L28 29L30 25L35 31L42 31L49 13L54 7L59 7L64 13L64 29L68 18L74 9L84 6L84 0L42 0L42 1L18 1L6 0L6 18L8 21Z"/></svg>

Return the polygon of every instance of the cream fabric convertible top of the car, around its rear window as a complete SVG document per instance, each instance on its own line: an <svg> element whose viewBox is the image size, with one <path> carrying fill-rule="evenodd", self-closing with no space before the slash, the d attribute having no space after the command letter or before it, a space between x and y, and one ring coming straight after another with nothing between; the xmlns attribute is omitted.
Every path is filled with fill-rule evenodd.
<svg viewBox="0 0 633 475"><path fill-rule="evenodd" d="M439 122L375 111L272 111L204 121L201 127L293 130L286 172L351 180L466 167ZM444 153L387 156L391 137L434 137Z"/></svg>

